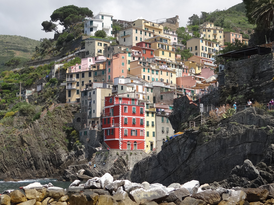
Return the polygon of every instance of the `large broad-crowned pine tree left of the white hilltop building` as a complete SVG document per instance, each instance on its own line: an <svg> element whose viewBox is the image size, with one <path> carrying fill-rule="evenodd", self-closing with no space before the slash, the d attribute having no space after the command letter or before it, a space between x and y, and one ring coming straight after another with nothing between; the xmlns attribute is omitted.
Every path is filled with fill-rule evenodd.
<svg viewBox="0 0 274 205"><path fill-rule="evenodd" d="M91 18L93 17L93 12L89 8L79 8L78 6L75 6L75 5L63 6L59 9L56 9L51 14L51 21L53 22L60 21L59 24L64 26L67 29L68 26L70 25L69 19L72 18L72 16L70 15L83 16L84 18Z"/></svg>

